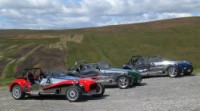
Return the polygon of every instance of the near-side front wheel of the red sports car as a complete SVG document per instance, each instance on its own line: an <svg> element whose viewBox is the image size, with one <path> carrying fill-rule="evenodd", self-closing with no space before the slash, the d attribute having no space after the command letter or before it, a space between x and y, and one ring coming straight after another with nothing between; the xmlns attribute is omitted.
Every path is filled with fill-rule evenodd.
<svg viewBox="0 0 200 111"><path fill-rule="evenodd" d="M81 98L82 91L78 86L70 86L67 88L65 96L70 102L76 102Z"/></svg>

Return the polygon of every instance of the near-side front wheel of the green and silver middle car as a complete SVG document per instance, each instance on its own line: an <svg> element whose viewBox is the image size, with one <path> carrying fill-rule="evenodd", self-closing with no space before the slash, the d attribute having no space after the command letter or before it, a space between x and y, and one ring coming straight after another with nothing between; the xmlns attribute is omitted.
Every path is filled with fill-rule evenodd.
<svg viewBox="0 0 200 111"><path fill-rule="evenodd" d="M129 79L129 77L127 77L127 76L120 76L117 79L117 86L120 89L126 89L126 88L128 88L130 86L130 79Z"/></svg>

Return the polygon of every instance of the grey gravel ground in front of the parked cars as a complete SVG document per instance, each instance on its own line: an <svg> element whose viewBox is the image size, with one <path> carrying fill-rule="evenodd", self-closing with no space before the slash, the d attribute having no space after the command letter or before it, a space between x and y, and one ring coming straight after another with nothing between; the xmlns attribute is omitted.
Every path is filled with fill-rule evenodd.
<svg viewBox="0 0 200 111"><path fill-rule="evenodd" d="M200 75L145 78L139 86L109 87L101 98L74 103L62 96L14 100L1 89L0 111L200 111Z"/></svg>

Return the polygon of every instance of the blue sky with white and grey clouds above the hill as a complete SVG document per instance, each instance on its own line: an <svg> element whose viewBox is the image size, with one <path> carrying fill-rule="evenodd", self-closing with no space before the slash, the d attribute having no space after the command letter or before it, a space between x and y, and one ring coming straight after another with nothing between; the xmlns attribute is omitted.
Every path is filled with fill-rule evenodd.
<svg viewBox="0 0 200 111"><path fill-rule="evenodd" d="M200 16L200 0L0 0L0 29L74 29Z"/></svg>

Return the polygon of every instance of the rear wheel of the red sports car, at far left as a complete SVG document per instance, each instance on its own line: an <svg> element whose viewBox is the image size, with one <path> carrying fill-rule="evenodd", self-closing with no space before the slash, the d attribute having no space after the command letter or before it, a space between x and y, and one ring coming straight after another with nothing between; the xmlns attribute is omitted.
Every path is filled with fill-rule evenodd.
<svg viewBox="0 0 200 111"><path fill-rule="evenodd" d="M16 100L21 100L25 98L25 93L22 91L21 87L19 85L14 85L12 87L12 96Z"/></svg>

